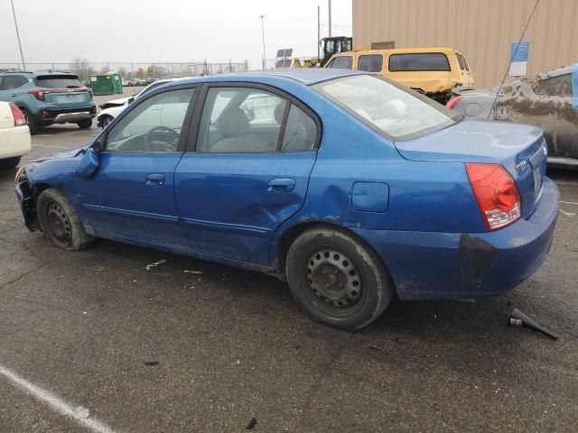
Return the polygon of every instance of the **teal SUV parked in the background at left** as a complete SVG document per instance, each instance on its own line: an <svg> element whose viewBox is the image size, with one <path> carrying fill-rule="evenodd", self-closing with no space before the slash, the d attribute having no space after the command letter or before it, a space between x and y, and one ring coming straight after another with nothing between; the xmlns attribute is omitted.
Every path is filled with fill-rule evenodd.
<svg viewBox="0 0 578 433"><path fill-rule="evenodd" d="M13 102L28 119L30 134L50 124L89 129L97 107L78 76L65 72L14 71L0 74L0 101Z"/></svg>

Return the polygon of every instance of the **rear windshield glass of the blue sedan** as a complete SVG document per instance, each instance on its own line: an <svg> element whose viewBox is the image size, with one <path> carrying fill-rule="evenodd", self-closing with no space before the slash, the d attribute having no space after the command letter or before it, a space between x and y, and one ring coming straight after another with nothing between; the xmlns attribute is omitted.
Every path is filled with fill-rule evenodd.
<svg viewBox="0 0 578 433"><path fill-rule="evenodd" d="M431 134L461 120L461 115L385 78L358 75L313 88L393 140Z"/></svg>

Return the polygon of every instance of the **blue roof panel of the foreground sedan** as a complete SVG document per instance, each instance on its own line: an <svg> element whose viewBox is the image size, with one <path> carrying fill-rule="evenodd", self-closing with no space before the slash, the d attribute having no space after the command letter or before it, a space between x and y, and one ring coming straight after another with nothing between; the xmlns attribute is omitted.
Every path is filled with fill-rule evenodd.
<svg viewBox="0 0 578 433"><path fill-rule="evenodd" d="M177 82L195 83L210 81L250 81L251 79L278 77L288 78L301 82L307 86L334 78L349 77L351 75L367 75L367 72L353 69L324 69L324 68L279 68L266 70L253 70L248 72L238 72L224 75L211 75L205 77L181 78Z"/></svg>

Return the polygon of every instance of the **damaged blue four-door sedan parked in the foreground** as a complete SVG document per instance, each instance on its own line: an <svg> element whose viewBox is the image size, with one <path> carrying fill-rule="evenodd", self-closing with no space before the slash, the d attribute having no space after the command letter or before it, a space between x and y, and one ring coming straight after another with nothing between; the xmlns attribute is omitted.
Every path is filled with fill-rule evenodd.
<svg viewBox="0 0 578 433"><path fill-rule="evenodd" d="M16 175L25 225L286 279L359 329L400 299L511 290L550 250L559 194L540 129L464 121L383 78L286 69L184 78L89 146Z"/></svg>

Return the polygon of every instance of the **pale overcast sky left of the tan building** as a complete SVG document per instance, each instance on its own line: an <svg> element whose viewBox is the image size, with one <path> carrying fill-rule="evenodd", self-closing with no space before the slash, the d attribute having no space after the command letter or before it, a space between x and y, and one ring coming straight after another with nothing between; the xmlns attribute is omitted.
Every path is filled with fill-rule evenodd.
<svg viewBox="0 0 578 433"><path fill-rule="evenodd" d="M317 55L317 5L327 35L327 0L14 0L26 62L249 61L281 48ZM351 34L351 0L333 0L333 35ZM10 0L0 0L0 63L20 53Z"/></svg>

